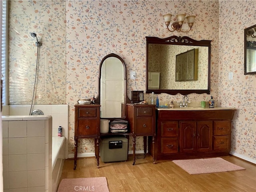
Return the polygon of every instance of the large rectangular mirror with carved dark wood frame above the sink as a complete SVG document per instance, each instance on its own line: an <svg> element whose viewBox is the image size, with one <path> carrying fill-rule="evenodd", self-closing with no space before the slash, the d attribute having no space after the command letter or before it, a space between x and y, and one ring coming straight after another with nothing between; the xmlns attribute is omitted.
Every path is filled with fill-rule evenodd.
<svg viewBox="0 0 256 192"><path fill-rule="evenodd" d="M186 72L196 70L197 78L177 81L176 56L194 49L196 66L191 62L193 66L187 65ZM146 54L146 93L210 94L211 40L197 41L186 36L146 37Z"/></svg>

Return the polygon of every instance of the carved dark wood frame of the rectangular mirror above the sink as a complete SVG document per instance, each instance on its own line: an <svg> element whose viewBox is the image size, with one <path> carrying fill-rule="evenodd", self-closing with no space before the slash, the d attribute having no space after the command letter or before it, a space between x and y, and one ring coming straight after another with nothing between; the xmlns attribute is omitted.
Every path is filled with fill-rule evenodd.
<svg viewBox="0 0 256 192"><path fill-rule="evenodd" d="M188 46L207 46L208 47L208 88L206 90L168 90L168 89L148 89L148 48L149 44L168 44L168 45L188 45ZM187 36L170 36L167 38L146 37L146 93L154 92L156 94L167 93L175 94L210 94L210 63L211 63L211 40L194 40Z"/></svg>

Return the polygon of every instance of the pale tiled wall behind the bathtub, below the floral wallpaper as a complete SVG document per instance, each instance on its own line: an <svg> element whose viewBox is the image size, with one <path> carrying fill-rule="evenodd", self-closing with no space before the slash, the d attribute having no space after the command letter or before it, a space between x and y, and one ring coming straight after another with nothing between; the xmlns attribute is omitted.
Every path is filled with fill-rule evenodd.
<svg viewBox="0 0 256 192"><path fill-rule="evenodd" d="M39 109L44 115L52 116L52 136L58 136L58 127L62 126L62 136L65 139L65 158L68 158L68 105L33 105L32 111ZM3 106L2 115L28 115L30 105L6 105Z"/></svg>

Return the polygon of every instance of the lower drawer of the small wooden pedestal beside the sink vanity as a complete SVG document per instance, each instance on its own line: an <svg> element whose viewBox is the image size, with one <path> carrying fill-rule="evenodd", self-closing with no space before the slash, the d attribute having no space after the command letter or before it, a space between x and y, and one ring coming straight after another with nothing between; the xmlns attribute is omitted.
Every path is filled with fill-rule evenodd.
<svg viewBox="0 0 256 192"><path fill-rule="evenodd" d="M150 118L137 118L136 134L153 134L153 119Z"/></svg>

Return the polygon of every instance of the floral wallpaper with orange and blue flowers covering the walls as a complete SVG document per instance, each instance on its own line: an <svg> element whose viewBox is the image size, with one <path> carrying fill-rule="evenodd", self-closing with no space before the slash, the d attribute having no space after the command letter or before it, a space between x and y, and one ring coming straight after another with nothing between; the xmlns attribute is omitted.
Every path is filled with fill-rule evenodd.
<svg viewBox="0 0 256 192"><path fill-rule="evenodd" d="M124 59L128 96L131 90L146 89L146 36L165 38L189 36L212 40L211 95L218 106L236 107L232 122L232 151L244 158L255 156L255 75L243 74L243 29L255 21L253 0L176 1L9 1L10 80L24 76L28 91L10 92L12 103L31 101L36 59L35 32L42 40L39 52L37 104L70 106L69 153L74 153L74 104L83 96L98 94L98 68L104 56L115 53ZM169 32L162 15L194 14L188 33ZM172 20L174 20L174 16ZM219 22L221 21L221 22ZM237 41L235 41L236 39ZM24 45L27 45L24 48ZM130 79L130 71L136 79ZM228 80L228 72L234 78ZM15 83L15 82L14 82ZM19 94L22 92L22 94ZM162 101L181 100L182 95L160 94ZM148 99L149 94L145 94ZM189 94L190 100L204 100L207 94ZM23 101L24 100L24 101ZM142 137L136 150L143 150ZM130 144L130 150L132 145ZM79 140L78 153L94 152L94 140Z"/></svg>

